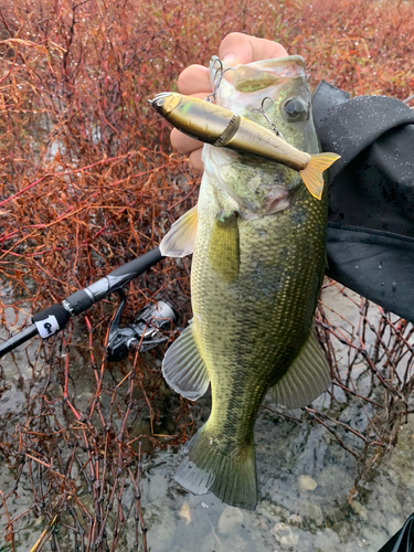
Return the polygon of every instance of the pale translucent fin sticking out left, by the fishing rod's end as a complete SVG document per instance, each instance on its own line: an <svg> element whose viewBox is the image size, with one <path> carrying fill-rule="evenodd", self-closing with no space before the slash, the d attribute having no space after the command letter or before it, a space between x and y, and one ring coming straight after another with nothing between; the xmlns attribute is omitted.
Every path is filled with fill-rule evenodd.
<svg viewBox="0 0 414 552"><path fill-rule="evenodd" d="M160 243L163 257L185 257L194 251L197 236L197 205L176 221Z"/></svg>

